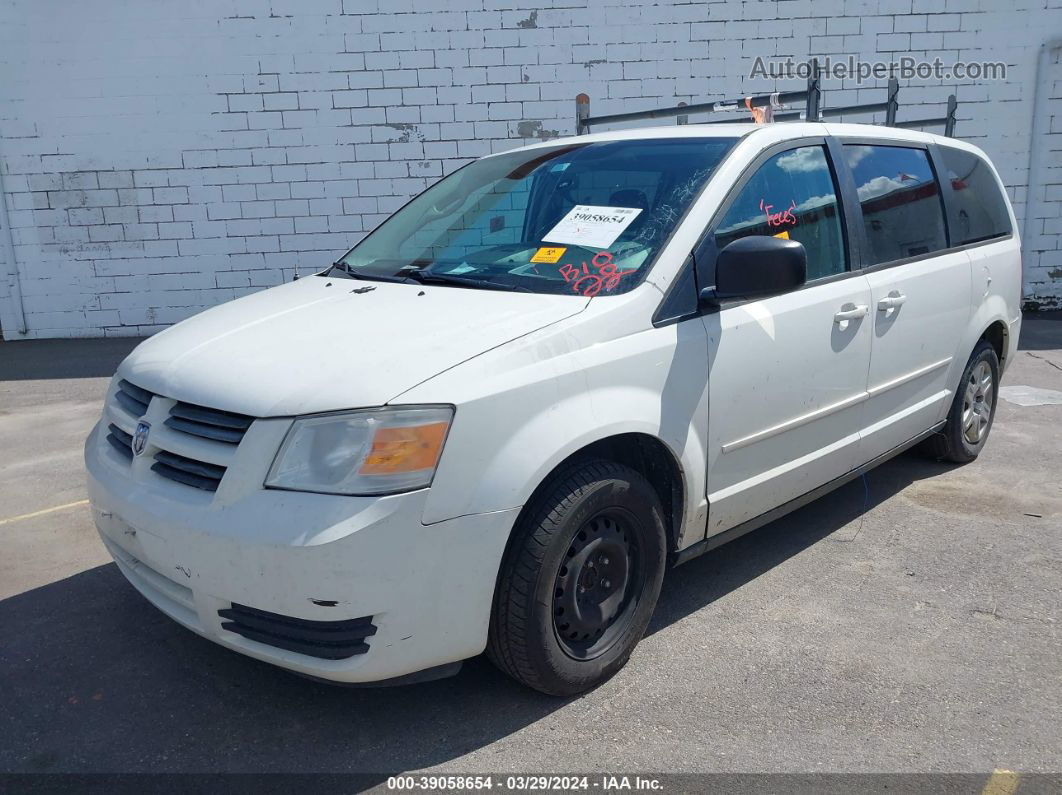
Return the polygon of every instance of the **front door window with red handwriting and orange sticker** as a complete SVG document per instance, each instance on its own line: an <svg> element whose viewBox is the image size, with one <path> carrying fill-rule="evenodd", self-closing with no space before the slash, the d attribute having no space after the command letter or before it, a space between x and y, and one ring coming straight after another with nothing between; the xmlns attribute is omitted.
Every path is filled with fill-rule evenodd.
<svg viewBox="0 0 1062 795"><path fill-rule="evenodd" d="M795 240L807 250L807 278L844 271L844 239L834 175L822 146L775 155L746 183L716 227L716 245L750 235Z"/></svg>

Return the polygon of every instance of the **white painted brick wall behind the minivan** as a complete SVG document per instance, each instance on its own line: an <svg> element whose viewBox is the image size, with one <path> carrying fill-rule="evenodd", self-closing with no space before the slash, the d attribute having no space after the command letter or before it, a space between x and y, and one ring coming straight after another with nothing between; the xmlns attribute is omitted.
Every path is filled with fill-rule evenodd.
<svg viewBox="0 0 1062 795"><path fill-rule="evenodd" d="M1005 83L905 86L901 118L956 91L958 135L992 155L1024 213L1037 52L1062 34L1062 0L552 4L0 3L25 336L150 333L321 266L468 158L571 133L579 91L602 114L791 85L750 80L757 55L1006 62ZM1057 54L1049 70L1026 245L1026 295L1044 307L1062 305ZM826 89L827 104L884 92ZM16 297L0 278L8 339Z"/></svg>

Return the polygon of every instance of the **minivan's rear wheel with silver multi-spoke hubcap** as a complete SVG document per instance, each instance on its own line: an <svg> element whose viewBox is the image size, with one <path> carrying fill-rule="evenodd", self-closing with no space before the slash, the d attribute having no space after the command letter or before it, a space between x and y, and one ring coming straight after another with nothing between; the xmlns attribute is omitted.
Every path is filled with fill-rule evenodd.
<svg viewBox="0 0 1062 795"><path fill-rule="evenodd" d="M976 459L992 430L998 387L999 358L995 348L981 340L962 371L944 428L922 443L922 451L955 464Z"/></svg>

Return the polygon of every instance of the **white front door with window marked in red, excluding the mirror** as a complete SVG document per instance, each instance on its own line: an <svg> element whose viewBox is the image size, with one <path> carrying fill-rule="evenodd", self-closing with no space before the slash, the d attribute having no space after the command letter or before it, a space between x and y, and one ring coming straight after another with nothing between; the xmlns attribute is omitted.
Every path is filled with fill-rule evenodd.
<svg viewBox="0 0 1062 795"><path fill-rule="evenodd" d="M710 230L706 256L748 235L786 237L803 243L808 281L704 316L709 536L857 465L871 289L849 269L834 169L821 141L761 159Z"/></svg>

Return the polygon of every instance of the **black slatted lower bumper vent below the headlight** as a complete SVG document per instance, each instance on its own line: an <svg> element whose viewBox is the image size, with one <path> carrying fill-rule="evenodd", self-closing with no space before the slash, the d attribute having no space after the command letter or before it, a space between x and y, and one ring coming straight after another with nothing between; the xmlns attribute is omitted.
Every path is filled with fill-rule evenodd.
<svg viewBox="0 0 1062 795"><path fill-rule="evenodd" d="M309 621L238 605L218 610L222 629L249 640L323 660L344 660L369 651L365 640L376 635L373 617L346 621Z"/></svg>

